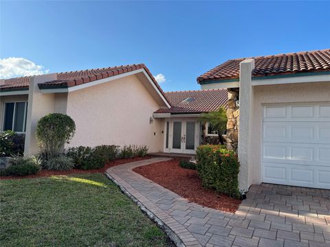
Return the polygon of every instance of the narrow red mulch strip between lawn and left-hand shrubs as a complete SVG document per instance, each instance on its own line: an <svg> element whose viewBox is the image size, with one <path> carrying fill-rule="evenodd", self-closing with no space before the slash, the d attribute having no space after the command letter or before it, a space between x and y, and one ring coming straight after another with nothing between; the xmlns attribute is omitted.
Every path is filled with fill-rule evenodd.
<svg viewBox="0 0 330 247"><path fill-rule="evenodd" d="M108 168L113 167L115 165L122 165L124 163L131 163L134 161L143 161L145 159L151 158L150 156L146 157L135 157L135 158L122 158L117 159L114 161L108 162L104 167L100 169L72 169L69 171L52 171L43 169L36 175L28 175L28 176L0 176L0 180L5 179L21 179L21 178L39 178L39 177L47 177L47 176L54 176L54 175L69 175L69 174L93 174L93 173L104 173Z"/></svg>

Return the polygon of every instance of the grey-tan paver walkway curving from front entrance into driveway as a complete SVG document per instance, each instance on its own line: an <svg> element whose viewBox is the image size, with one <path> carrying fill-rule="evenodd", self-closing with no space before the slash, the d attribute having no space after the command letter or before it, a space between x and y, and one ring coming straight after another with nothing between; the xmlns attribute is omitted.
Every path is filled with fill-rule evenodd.
<svg viewBox="0 0 330 247"><path fill-rule="evenodd" d="M107 169L117 183L177 246L330 246L330 191L252 185L236 213L202 207L132 171L168 158Z"/></svg>

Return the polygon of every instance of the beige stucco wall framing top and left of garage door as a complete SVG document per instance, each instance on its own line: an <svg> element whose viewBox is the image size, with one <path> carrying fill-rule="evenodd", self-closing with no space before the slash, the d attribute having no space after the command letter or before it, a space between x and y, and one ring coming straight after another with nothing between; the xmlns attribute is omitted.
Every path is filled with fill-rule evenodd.
<svg viewBox="0 0 330 247"><path fill-rule="evenodd" d="M263 104L330 102L330 82L253 86L249 183L261 183Z"/></svg>

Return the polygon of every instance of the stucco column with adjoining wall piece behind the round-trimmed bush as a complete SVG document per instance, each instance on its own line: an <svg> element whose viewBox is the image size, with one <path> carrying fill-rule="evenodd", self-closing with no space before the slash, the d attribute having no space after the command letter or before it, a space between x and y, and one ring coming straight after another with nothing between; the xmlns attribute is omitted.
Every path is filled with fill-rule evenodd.
<svg viewBox="0 0 330 247"><path fill-rule="evenodd" d="M36 154L39 152L36 142L36 124L41 117L48 113L54 113L54 93L41 93L38 84L57 80L57 74L36 75L30 78L28 113L26 119L24 154Z"/></svg>

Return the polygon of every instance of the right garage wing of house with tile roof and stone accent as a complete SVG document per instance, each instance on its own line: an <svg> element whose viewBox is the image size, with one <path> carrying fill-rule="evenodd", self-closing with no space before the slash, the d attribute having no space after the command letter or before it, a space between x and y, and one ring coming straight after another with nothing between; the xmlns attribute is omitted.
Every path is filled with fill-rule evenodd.
<svg viewBox="0 0 330 247"><path fill-rule="evenodd" d="M330 49L232 59L197 82L228 89L242 191L262 182L330 189Z"/></svg>

